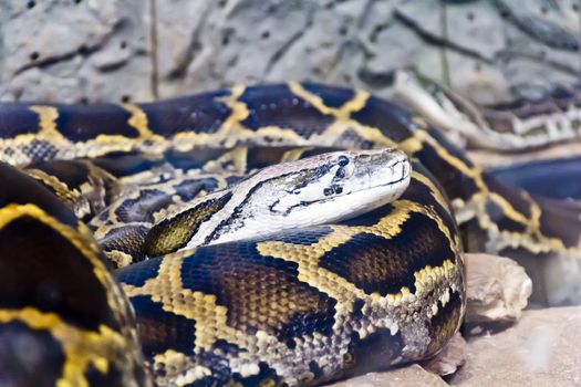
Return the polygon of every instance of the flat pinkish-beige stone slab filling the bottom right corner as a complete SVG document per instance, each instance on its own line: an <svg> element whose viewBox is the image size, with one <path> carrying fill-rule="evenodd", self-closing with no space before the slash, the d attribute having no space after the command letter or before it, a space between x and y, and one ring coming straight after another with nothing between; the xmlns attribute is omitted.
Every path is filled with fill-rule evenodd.
<svg viewBox="0 0 581 387"><path fill-rule="evenodd" d="M471 337L458 386L581 385L581 307L525 311L518 324Z"/></svg>

